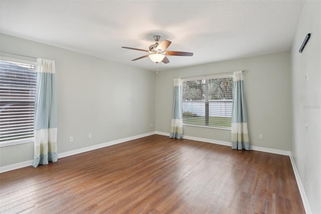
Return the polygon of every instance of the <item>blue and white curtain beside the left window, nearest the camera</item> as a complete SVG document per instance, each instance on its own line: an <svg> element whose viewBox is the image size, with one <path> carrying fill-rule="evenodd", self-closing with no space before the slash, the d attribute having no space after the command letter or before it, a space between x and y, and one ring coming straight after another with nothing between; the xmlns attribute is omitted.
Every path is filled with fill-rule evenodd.
<svg viewBox="0 0 321 214"><path fill-rule="evenodd" d="M37 59L33 167L58 160L55 61Z"/></svg>

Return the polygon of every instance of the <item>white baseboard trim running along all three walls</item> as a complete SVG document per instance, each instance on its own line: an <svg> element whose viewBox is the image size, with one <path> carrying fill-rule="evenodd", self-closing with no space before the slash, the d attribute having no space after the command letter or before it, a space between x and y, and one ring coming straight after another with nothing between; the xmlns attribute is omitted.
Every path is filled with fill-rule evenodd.
<svg viewBox="0 0 321 214"><path fill-rule="evenodd" d="M102 144L97 144L94 146L89 146L89 147L85 147L85 148L81 148L81 149L76 149L76 150L72 150L69 152L63 152L63 153L59 153L58 157L59 158L63 158L63 157L67 157L67 156L71 156L71 155L76 155L79 153L83 153L83 152L88 152L91 150L95 150L95 149L100 149L103 147L107 147L107 146L111 146L111 145L115 145L115 144L119 144L119 143L123 143L126 141L131 141L131 140L135 140L138 138L143 138L143 137L147 137L150 135L164 135L164 136L170 136L170 133L166 133L166 132L150 132L150 133L145 133L145 134L141 134L141 135L136 135L136 136L132 136L132 137L128 137L128 138L123 138L123 139L119 139L119 140L114 140L114 141L110 141L107 143L102 143ZM213 143L213 144L219 144L219 145L223 145L223 146L231 146L231 142L225 142L225 141L217 141L217 140L212 140L212 139L206 139L206 138L198 138L198 137L192 137L192 136L183 136L184 139L188 139L188 140L193 140L193 141L201 141L201 142L206 142L206 143ZM304 188L303 185L301 183L298 171L296 169L293 157L292 157L292 153L290 151L284 151L284 150L278 150L278 149L269 149L269 148L264 148L264 147L258 147L258 146L250 146L251 150L255 150L255 151L260 151L260 152L268 152L268 153L273 153L273 154L279 154L279 155L286 155L290 157L290 161L292 164L292 168L294 171L294 175L295 175L295 179L300 191L300 195L302 198L302 202L304 205L304 209L306 213L311 213L311 209L310 206L308 204L308 200L307 197L305 195L304 192ZM27 166L31 166L33 160L29 160L29 161L25 161L25 162L21 162L21 163L16 163L16 164L12 164L12 165L8 165L8 166L3 166L0 167L0 173L3 172L8 172L11 170L15 170L15 169L19 169L19 168L23 168L23 167L27 167Z"/></svg>

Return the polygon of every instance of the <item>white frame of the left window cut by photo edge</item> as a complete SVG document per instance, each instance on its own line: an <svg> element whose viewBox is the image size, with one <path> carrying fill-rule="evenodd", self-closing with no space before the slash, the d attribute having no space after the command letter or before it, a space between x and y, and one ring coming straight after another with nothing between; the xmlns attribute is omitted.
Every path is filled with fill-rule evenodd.
<svg viewBox="0 0 321 214"><path fill-rule="evenodd" d="M13 57L7 57L7 56L0 56L1 61L6 61L9 63L17 63L17 64L27 64L35 66L35 76L37 78L37 61L36 60L25 60L20 58L13 58ZM34 87L35 93L36 93L36 86ZM34 115L33 115L34 117ZM32 122L34 124L34 121ZM32 125L34 127L34 125ZM34 128L33 128L34 129ZM34 135L34 131L32 131L32 135ZM23 139L14 139L14 140L7 140L0 142L0 147L4 146L11 146L11 145L18 145L18 144L25 144L25 143L34 143L34 136L29 138L23 138Z"/></svg>

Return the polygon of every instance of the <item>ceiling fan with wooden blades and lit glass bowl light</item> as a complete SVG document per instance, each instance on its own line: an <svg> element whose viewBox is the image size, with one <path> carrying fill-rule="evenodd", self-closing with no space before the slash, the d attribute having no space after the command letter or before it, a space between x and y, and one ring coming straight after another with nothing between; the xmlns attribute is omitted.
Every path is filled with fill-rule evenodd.
<svg viewBox="0 0 321 214"><path fill-rule="evenodd" d="M159 36L159 35L154 36L154 40L156 43L149 46L149 51L137 49L137 48L128 48L128 47L122 47L122 48L127 48L127 49L131 49L131 50L136 50L136 51L144 51L144 52L150 53L145 56L141 56L136 59L133 59L131 61L135 61L137 59L142 59L142 58L145 58L148 56L151 59L151 61L153 61L155 63L164 62L167 64L170 62L170 60L166 57L166 55L169 55L169 56L193 56L193 53L189 53L189 52L165 51L171 45L172 42L168 41L168 40L163 40L161 43L158 44L159 38L161 38L161 36Z"/></svg>

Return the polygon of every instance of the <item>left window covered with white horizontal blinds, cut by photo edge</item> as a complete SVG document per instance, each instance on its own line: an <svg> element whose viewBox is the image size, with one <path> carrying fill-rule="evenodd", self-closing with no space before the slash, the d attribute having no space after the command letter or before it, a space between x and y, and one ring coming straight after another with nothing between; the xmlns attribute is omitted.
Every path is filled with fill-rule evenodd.
<svg viewBox="0 0 321 214"><path fill-rule="evenodd" d="M0 60L0 146L32 142L36 65Z"/></svg>

